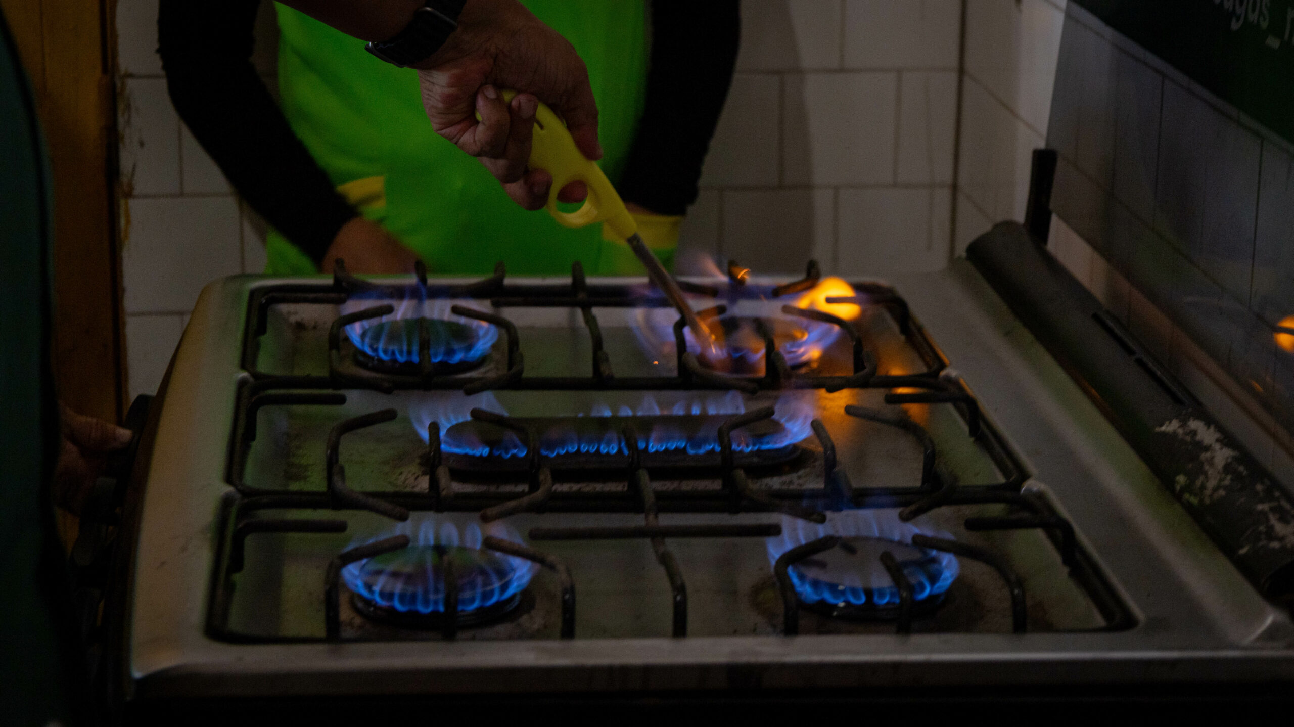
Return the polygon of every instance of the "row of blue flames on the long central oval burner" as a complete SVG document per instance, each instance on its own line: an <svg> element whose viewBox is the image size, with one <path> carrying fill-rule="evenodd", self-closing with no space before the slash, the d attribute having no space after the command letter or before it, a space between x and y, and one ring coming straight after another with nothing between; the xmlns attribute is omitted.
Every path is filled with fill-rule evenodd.
<svg viewBox="0 0 1294 727"><path fill-rule="evenodd" d="M660 395L661 397L669 395ZM507 414L489 392L476 396L439 396L431 402L415 407L409 418L414 428L427 439L427 426L435 420L440 423L441 450L452 454L466 454L471 457L497 457L512 458L525 457L525 444L509 432L498 444L493 446L479 441L466 441L458 439L457 432L450 432L450 427L471 418L474 407L485 409L498 414ZM703 415L732 415L744 414L745 401L738 392L725 395L682 396L675 395L674 401L661 402L661 400L646 395L637 407L619 405L615 410L606 405L594 405L587 413L576 413L571 419L609 418L609 417L643 417L635 427L638 432L638 448L647 453L686 451L699 455L719 451L718 426L713 429L686 431L685 422L670 422L668 417L703 417ZM774 435L754 436L745 429L732 432L734 451L751 453L761 450L775 450L796 444L813 432L813 405L801 392L784 395L775 405L774 419L782 424L782 429ZM656 418L664 417L664 418ZM558 426L553 431L540 432L540 453L545 457L560 457L565 454L628 454L620 432L615 428L604 431L593 429L597 433L581 432L575 422L571 426Z"/></svg>

